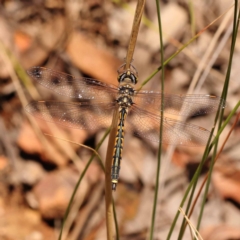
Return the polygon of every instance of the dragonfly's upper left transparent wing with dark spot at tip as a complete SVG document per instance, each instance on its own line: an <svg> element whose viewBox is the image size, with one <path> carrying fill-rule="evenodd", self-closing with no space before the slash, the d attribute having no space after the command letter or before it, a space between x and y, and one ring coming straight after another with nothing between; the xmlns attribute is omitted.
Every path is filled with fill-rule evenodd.
<svg viewBox="0 0 240 240"><path fill-rule="evenodd" d="M72 75L43 67L30 68L27 73L38 83L52 91L79 99L110 101L116 99L118 88L91 78L75 78Z"/></svg>

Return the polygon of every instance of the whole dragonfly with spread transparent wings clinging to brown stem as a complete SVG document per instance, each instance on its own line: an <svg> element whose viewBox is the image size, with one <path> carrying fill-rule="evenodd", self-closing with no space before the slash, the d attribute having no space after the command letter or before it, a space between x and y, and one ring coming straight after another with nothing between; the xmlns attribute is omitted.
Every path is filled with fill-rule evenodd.
<svg viewBox="0 0 240 240"><path fill-rule="evenodd" d="M74 101L33 101L25 109L36 118L70 128L96 130L110 126L114 109L118 109L118 129L112 157L112 190L116 190L124 131L133 131L137 137L159 142L160 120L163 117L162 143L182 146L200 146L208 141L210 132L197 125L177 120L174 116L205 115L224 107L220 97L204 94L175 95L157 91L136 90L138 73L131 64L118 69L118 85L33 67L27 73L39 84ZM161 99L164 100L162 109Z"/></svg>

